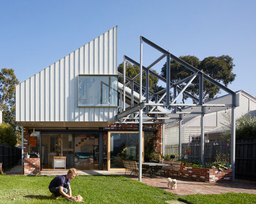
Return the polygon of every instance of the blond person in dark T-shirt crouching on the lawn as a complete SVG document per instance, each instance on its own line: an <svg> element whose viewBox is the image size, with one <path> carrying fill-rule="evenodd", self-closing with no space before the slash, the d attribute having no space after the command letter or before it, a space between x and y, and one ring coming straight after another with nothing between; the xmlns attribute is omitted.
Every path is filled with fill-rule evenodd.
<svg viewBox="0 0 256 204"><path fill-rule="evenodd" d="M58 199L58 196L66 197L70 200L76 200L72 196L72 191L70 187L70 180L74 179L77 175L77 170L75 168L69 169L67 175L56 176L49 185L49 190L52 193L51 198L54 200Z"/></svg>

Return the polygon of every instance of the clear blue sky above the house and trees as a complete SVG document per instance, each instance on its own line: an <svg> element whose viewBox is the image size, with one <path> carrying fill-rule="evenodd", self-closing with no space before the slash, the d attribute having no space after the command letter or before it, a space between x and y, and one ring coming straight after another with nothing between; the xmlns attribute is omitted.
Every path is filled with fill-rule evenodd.
<svg viewBox="0 0 256 204"><path fill-rule="evenodd" d="M255 96L255 9L256 1L0 0L0 68L22 82L118 25L118 64L124 54L139 62L140 35L176 56L229 55L237 77L228 87ZM143 47L143 64L160 56Z"/></svg>

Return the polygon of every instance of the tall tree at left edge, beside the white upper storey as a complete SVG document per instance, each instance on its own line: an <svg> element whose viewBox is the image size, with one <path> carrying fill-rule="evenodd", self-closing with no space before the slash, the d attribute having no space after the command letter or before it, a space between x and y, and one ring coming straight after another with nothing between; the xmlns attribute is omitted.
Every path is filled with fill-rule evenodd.
<svg viewBox="0 0 256 204"><path fill-rule="evenodd" d="M3 68L0 72L0 106L4 109L3 121L16 129L15 121L15 85L17 80L14 70Z"/></svg>

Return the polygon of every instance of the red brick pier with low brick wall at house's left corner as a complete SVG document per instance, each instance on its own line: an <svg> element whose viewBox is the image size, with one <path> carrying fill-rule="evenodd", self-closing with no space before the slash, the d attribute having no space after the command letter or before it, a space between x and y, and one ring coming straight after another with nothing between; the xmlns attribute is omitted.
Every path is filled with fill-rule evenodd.
<svg viewBox="0 0 256 204"><path fill-rule="evenodd" d="M23 129L23 156L27 155L29 147L28 127ZM40 158L25 158L23 163L24 175L36 175L40 172Z"/></svg>

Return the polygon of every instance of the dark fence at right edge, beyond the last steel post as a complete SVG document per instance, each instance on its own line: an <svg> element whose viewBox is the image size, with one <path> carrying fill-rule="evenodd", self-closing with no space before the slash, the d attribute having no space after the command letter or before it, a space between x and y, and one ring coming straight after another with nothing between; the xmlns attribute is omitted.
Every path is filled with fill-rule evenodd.
<svg viewBox="0 0 256 204"><path fill-rule="evenodd" d="M236 141L236 179L256 181L256 139Z"/></svg>

